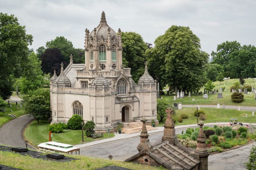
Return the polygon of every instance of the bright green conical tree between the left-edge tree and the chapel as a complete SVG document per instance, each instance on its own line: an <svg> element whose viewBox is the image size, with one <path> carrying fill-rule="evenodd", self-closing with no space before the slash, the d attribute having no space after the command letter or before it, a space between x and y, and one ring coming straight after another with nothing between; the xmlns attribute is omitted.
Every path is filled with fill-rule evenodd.
<svg viewBox="0 0 256 170"><path fill-rule="evenodd" d="M44 77L41 70L41 61L34 52L31 52L28 56L28 62L23 68L22 77L17 79L15 85L18 85L22 94L43 87Z"/></svg>

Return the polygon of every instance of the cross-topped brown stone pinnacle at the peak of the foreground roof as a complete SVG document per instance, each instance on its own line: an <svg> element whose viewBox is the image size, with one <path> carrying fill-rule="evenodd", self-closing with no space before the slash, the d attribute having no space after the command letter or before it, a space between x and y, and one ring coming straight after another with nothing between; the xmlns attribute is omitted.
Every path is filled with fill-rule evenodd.
<svg viewBox="0 0 256 170"><path fill-rule="evenodd" d="M172 120L173 110L171 107L167 107L166 110L166 121L164 124L164 136L162 136L162 142L169 140L169 142L174 145L174 141L176 139L175 135L175 125L174 121Z"/></svg>

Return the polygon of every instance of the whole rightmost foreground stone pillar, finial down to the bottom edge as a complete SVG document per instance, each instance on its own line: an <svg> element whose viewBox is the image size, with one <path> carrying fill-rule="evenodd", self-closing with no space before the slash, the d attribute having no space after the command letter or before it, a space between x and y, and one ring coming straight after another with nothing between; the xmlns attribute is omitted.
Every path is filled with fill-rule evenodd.
<svg viewBox="0 0 256 170"><path fill-rule="evenodd" d="M194 151L197 155L199 155L199 160L201 160L201 163L199 164L198 169L199 170L208 170L208 156L209 152L206 149L206 144L205 144L205 137L203 133L203 125L204 123L200 121L198 123L200 129L199 129L199 134L197 137L197 148Z"/></svg>

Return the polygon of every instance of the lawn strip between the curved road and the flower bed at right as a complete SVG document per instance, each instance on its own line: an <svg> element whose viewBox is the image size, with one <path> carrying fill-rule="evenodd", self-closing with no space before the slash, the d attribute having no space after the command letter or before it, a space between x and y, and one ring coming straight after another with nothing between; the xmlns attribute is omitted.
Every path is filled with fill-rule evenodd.
<svg viewBox="0 0 256 170"><path fill-rule="evenodd" d="M238 111L234 109L217 109L217 108L201 108L207 115L207 119L203 120L204 123L216 123L216 122L229 122L230 119L238 119L238 122L248 122L248 123L256 123L256 116L252 116L252 112L250 111ZM196 124L197 117L194 116L194 111L196 108L182 108L182 110L176 109L176 115L172 118L176 120L175 126L179 125L190 125ZM179 123L177 120L180 118L182 113L187 113L188 118L183 119L182 123ZM242 115L248 114L248 117L242 117ZM164 122L165 122L164 118ZM158 115L158 120L160 117ZM200 120L199 120L200 121ZM158 126L162 126L164 123L159 122Z"/></svg>

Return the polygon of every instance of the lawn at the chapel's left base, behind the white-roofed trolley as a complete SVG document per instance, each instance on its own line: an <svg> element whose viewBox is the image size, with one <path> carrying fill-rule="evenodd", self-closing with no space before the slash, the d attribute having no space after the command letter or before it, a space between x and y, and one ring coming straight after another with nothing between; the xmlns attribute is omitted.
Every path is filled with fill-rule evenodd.
<svg viewBox="0 0 256 170"><path fill-rule="evenodd" d="M49 122L47 120L39 120L39 124L37 124L37 121L34 120L29 126L27 126L25 130L25 138L34 146L39 145L43 142L49 141L49 131L48 126ZM85 132L84 132L85 135ZM103 137L92 139L91 137L84 136L84 142L91 142L95 140L101 140L108 138L108 134L103 134ZM113 137L114 134L111 133L109 137ZM61 142L61 143L67 143L70 145L77 145L82 140L82 130L64 130L63 133L55 134L53 133L52 141L54 142Z"/></svg>

